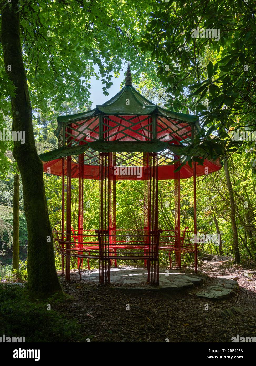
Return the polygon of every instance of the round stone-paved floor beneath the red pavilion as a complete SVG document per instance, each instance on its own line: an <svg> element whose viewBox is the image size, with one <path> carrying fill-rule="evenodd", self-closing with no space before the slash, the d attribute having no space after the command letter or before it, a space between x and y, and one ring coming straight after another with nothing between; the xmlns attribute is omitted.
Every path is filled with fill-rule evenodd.
<svg viewBox="0 0 256 366"><path fill-rule="evenodd" d="M82 273L82 279L91 283L99 282L99 270ZM203 281L202 276L191 275L177 272L177 270L166 270L160 268L159 282L157 287L149 286L148 270L143 267L122 266L110 269L110 288L118 290L143 290L143 291L168 291L182 290L200 284ZM114 284L114 286L112 286ZM118 284L118 286L115 286ZM131 285L123 287L122 285ZM137 286L134 286L137 285Z"/></svg>

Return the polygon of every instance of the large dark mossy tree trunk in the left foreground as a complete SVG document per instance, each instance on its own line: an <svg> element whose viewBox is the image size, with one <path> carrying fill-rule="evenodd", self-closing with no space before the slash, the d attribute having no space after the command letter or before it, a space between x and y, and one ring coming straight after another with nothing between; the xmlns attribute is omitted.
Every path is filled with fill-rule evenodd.
<svg viewBox="0 0 256 366"><path fill-rule="evenodd" d="M26 142L14 142L24 195L28 230L28 289L49 294L61 291L53 251L53 238L46 205L43 166L35 147L32 109L20 44L19 1L0 0L1 43L5 72L15 86L11 95L12 131L24 131ZM11 68L11 70L10 70Z"/></svg>

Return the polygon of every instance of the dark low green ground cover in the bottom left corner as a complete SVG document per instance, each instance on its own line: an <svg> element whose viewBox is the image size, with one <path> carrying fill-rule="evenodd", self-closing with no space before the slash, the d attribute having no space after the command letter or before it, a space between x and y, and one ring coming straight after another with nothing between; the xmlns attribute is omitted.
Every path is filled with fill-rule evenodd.
<svg viewBox="0 0 256 366"><path fill-rule="evenodd" d="M0 324L2 334L26 337L26 342L86 341L80 325L54 309L56 300L31 301L24 288L0 285Z"/></svg>

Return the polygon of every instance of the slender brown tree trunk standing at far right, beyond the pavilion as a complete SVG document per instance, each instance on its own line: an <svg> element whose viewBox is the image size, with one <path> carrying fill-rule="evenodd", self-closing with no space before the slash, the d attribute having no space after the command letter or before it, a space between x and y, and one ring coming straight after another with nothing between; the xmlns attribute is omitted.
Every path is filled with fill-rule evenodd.
<svg viewBox="0 0 256 366"><path fill-rule="evenodd" d="M229 200L230 200L230 220L231 220L231 224L232 224L232 234L233 234L234 261L236 263L240 263L234 193L233 193L233 188L232 188L232 184L230 181L228 160L226 160L224 163L224 169L225 169L225 176L226 176L227 187L228 187L228 191L229 191Z"/></svg>

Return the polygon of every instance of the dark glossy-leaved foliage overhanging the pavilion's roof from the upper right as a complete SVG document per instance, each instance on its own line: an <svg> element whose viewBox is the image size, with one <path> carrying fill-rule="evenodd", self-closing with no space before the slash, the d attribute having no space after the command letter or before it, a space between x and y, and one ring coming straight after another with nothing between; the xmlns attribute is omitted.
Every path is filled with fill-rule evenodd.
<svg viewBox="0 0 256 366"><path fill-rule="evenodd" d="M219 40L217 33L214 38L193 38L198 27L219 30ZM203 129L188 155L240 152L241 142L232 141L228 132L255 130L255 37L253 7L242 0L153 5L137 46L157 64L158 81L168 95L166 106L178 112L186 107L201 116ZM251 147L246 164L255 169L255 144L244 145Z"/></svg>

